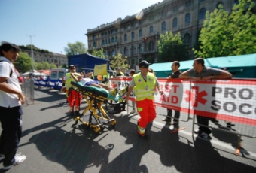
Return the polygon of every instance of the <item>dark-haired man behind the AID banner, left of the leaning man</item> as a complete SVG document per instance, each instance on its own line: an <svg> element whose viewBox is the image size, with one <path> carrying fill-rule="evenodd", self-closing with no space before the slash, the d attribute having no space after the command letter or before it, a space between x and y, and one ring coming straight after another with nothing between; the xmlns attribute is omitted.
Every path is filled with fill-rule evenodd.
<svg viewBox="0 0 256 173"><path fill-rule="evenodd" d="M172 62L172 74L170 74L167 79L176 79L179 77L179 75L182 73L182 71L180 71L178 68L180 67L180 64L178 61L174 61ZM180 117L180 111L175 111L175 114L174 114L174 118L173 119L173 124L178 124L178 119ZM169 122L171 123L172 121L172 109L167 109L167 116L166 118L163 119L163 121L166 121L166 122Z"/></svg>

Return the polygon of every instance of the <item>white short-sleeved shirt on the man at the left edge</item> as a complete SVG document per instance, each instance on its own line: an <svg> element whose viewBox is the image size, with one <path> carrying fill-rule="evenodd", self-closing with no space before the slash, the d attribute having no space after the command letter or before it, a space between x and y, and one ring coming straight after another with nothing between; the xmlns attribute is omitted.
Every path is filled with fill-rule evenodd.
<svg viewBox="0 0 256 173"><path fill-rule="evenodd" d="M15 71L14 65L10 62L9 59L1 56L0 57L0 77L7 77L7 83L15 90L21 92L20 83L18 80L18 74ZM12 74L10 77L10 72L12 70ZM0 90L0 106L5 108L12 108L15 106L20 106L20 100L17 94L12 93L5 93L4 91Z"/></svg>

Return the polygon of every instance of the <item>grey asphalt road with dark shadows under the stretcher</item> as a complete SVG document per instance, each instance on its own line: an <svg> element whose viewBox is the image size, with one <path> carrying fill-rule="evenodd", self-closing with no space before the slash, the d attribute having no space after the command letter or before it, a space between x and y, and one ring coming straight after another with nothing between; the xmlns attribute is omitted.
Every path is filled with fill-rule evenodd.
<svg viewBox="0 0 256 173"><path fill-rule="evenodd" d="M83 101L81 109L86 105ZM243 137L236 156L237 135L212 130L203 139L191 134L192 120L180 121L178 128L185 129L170 133L174 127L157 114L147 127L148 138L141 138L136 134L139 115L108 113L116 126L108 123L96 134L75 124L68 112L64 95L36 89L34 104L23 105L18 151L27 159L7 172L256 172L255 139Z"/></svg>

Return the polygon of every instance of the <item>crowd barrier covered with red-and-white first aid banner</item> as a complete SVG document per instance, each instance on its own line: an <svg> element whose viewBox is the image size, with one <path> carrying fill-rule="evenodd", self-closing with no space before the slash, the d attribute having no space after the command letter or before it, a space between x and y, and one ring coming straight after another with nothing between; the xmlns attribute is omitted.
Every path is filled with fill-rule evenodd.
<svg viewBox="0 0 256 173"><path fill-rule="evenodd" d="M131 78L117 78L111 79L110 83L112 87L122 89L129 86L130 81ZM201 115L213 122L219 121L209 123L209 128L230 132L239 138L256 138L255 79L197 81L158 78L158 81L164 94L155 91L154 102L159 107L157 114L166 115L168 108L184 112L179 118L181 121L188 121L193 116L193 131L194 124L197 124L194 115ZM133 93L130 100L135 100ZM227 126L229 122L234 126Z"/></svg>

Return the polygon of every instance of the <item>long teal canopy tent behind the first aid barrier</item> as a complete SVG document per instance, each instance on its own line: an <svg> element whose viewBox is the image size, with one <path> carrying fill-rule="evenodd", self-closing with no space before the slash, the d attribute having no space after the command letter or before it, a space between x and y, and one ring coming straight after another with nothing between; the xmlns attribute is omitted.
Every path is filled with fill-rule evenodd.
<svg viewBox="0 0 256 173"><path fill-rule="evenodd" d="M256 53L240 56L224 56L204 59L205 65L212 68L228 68L228 71L237 78L256 78ZM187 71L193 68L194 60L181 61L180 70ZM154 63L150 65L157 77L167 77L172 74L172 62Z"/></svg>

